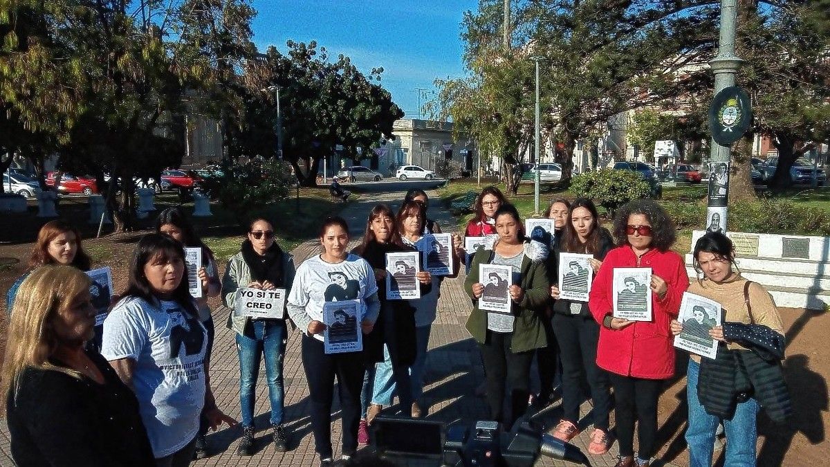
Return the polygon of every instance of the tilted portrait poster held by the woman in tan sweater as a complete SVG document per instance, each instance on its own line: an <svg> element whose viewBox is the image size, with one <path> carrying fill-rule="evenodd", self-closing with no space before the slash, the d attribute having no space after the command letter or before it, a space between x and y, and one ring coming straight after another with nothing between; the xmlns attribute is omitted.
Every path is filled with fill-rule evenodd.
<svg viewBox="0 0 830 467"><path fill-rule="evenodd" d="M720 326L722 319L720 303L695 293L683 292L680 315L677 317L683 330L675 336L674 346L714 360L718 342L709 335L709 330Z"/></svg>

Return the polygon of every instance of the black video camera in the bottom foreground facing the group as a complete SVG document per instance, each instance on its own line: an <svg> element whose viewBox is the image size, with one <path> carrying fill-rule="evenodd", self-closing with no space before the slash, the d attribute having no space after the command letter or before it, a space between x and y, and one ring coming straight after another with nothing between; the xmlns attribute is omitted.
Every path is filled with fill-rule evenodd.
<svg viewBox="0 0 830 467"><path fill-rule="evenodd" d="M590 465L578 447L543 434L528 420L504 431L489 420L447 428L439 421L378 416L372 440L378 455L402 465L421 459L448 466L531 467L540 455Z"/></svg>

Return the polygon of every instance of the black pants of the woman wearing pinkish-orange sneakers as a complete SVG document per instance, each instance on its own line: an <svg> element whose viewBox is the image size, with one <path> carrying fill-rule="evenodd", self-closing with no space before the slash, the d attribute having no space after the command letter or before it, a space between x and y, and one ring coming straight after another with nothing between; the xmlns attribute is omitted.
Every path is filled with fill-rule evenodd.
<svg viewBox="0 0 830 467"><path fill-rule="evenodd" d="M564 420L579 425L579 406L583 401L583 378L588 380L593 401L593 426L608 431L611 412L611 381L597 366L599 325L593 317L563 315L553 318L554 332L562 357L562 409Z"/></svg>

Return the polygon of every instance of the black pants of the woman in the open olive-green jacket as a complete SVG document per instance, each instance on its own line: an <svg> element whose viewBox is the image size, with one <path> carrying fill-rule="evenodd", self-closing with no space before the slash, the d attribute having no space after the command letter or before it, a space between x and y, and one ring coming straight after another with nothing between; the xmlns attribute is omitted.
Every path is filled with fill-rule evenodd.
<svg viewBox="0 0 830 467"><path fill-rule="evenodd" d="M481 359L487 369L487 402L493 420L505 425L510 430L513 422L525 415L527 398L530 396L530 364L534 351L513 353L510 342L513 333L487 331L486 342L479 344ZM504 416L506 391L510 394L510 419Z"/></svg>

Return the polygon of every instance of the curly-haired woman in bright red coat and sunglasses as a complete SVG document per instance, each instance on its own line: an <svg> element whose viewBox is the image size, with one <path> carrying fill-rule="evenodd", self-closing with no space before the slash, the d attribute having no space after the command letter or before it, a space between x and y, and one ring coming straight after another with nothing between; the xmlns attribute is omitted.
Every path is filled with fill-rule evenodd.
<svg viewBox="0 0 830 467"><path fill-rule="evenodd" d="M647 466L657 437L657 398L674 375L675 352L669 322L677 316L689 287L686 266L671 251L676 230L652 199L636 199L618 210L613 248L593 280L588 307L602 326L597 365L608 371L614 388L614 415L620 455L617 467ZM652 320L634 322L613 316L614 268L651 268ZM634 422L640 450L634 458Z"/></svg>

